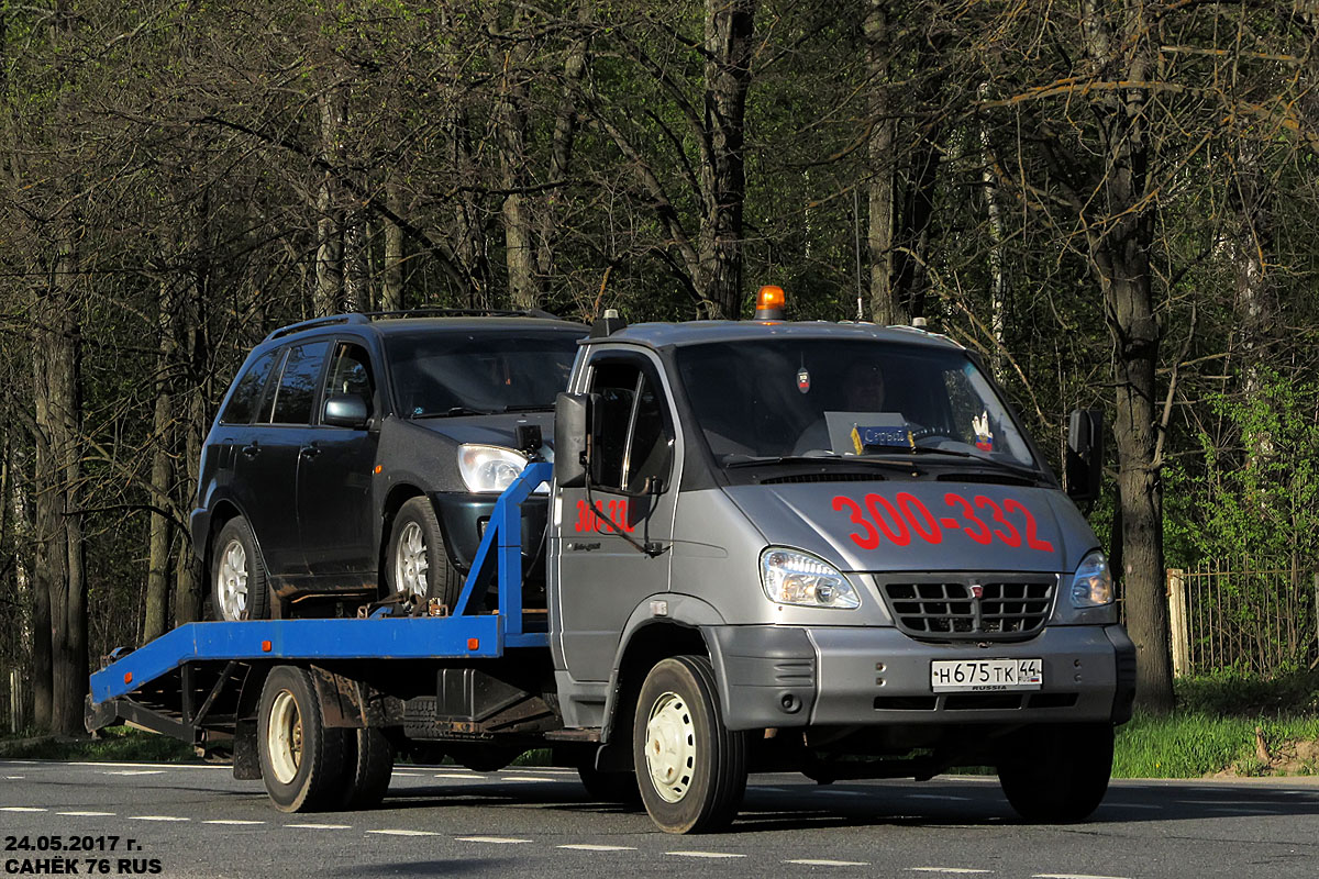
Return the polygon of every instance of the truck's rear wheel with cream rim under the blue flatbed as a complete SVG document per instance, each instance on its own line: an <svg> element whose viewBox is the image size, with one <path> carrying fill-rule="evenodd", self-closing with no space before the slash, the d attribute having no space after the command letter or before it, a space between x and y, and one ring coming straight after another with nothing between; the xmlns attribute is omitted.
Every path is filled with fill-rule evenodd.
<svg viewBox="0 0 1319 879"><path fill-rule="evenodd" d="M318 812L339 804L344 775L343 729L321 717L311 673L276 666L261 688L256 747L261 780L281 812Z"/></svg>

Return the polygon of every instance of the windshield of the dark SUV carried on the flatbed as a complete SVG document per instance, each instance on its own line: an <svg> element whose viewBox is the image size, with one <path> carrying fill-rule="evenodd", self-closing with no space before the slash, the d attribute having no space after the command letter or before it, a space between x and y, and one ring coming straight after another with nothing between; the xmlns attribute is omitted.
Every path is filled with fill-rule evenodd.
<svg viewBox="0 0 1319 879"><path fill-rule="evenodd" d="M554 409L567 387L574 332L429 332L385 341L404 418Z"/></svg>

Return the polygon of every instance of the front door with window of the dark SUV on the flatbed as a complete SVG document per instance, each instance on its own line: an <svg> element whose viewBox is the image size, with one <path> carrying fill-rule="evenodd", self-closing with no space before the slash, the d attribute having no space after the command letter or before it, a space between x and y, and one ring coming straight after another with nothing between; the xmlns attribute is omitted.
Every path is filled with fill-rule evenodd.
<svg viewBox="0 0 1319 879"><path fill-rule="evenodd" d="M360 397L377 411L371 354L350 340L334 343L317 424L298 453L298 532L313 576L376 576L376 523L371 486L379 430L324 424L326 402Z"/></svg>

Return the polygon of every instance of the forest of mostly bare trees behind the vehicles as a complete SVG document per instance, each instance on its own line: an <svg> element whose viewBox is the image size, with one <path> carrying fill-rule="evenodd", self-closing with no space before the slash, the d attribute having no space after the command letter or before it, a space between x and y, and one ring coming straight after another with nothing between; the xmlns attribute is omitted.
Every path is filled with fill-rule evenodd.
<svg viewBox="0 0 1319 879"><path fill-rule="evenodd" d="M0 668L77 731L100 655L200 615L199 447L280 324L776 283L981 352L1055 467L1104 410L1167 710L1165 568L1319 568L1316 40L1310 0L0 0Z"/></svg>

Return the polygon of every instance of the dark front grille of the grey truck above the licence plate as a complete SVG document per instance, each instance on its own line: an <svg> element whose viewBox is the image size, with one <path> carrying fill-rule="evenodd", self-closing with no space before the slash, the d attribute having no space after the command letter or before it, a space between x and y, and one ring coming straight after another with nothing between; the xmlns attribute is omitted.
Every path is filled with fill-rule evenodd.
<svg viewBox="0 0 1319 879"><path fill-rule="evenodd" d="M1000 575L1001 577L1001 575ZM1021 640L1049 619L1058 577L880 582L898 629L926 640ZM975 597L980 586L980 597Z"/></svg>

